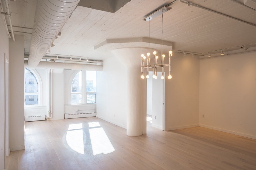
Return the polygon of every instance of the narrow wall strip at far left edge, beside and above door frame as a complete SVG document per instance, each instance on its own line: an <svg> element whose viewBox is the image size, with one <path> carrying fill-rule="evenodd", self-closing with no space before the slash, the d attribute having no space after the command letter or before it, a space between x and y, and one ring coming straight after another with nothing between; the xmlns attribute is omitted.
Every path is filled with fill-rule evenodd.
<svg viewBox="0 0 256 170"><path fill-rule="evenodd" d="M9 60L9 38L4 28L3 15L0 17L0 169L4 169L4 158L5 158L5 100L4 100L4 65L5 57Z"/></svg>

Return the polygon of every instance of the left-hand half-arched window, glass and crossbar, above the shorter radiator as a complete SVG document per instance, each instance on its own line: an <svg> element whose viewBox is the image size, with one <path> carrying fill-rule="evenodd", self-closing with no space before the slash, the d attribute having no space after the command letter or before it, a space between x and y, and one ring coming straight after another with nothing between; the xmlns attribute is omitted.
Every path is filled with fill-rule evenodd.
<svg viewBox="0 0 256 170"><path fill-rule="evenodd" d="M24 98L25 105L38 105L38 80L27 68L24 77Z"/></svg>

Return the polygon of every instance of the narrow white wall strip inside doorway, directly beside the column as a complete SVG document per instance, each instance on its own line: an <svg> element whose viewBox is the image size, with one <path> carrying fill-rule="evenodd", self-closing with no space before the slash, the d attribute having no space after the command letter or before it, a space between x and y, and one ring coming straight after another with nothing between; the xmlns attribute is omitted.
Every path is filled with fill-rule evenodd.
<svg viewBox="0 0 256 170"><path fill-rule="evenodd" d="M147 115L152 115L152 81L153 81L153 72L149 72L149 78L147 80Z"/></svg>

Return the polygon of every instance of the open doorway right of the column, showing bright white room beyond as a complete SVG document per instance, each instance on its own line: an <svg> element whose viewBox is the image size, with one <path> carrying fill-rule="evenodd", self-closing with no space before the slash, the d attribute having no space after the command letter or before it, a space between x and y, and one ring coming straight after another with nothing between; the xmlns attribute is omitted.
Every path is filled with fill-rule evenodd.
<svg viewBox="0 0 256 170"><path fill-rule="evenodd" d="M149 72L147 79L147 127L165 130L164 127L164 79L157 72L157 79L153 79L153 72Z"/></svg>

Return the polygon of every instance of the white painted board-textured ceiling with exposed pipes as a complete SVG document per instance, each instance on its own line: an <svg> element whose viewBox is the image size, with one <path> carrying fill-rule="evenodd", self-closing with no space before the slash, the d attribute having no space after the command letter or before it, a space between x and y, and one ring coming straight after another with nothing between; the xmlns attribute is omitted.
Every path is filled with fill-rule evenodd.
<svg viewBox="0 0 256 170"><path fill-rule="evenodd" d="M171 0L173 1L173 0ZM51 53L74 55L89 59L112 57L111 50L118 47L145 46L141 43L105 45L94 50L94 46L105 39L149 37L161 39L161 16L150 22L142 19L171 1L131 0L115 13L78 6L55 39ZM256 12L230 0L190 0L235 18L256 24ZM242 0L241 0L242 3ZM32 33L36 0L10 1L11 19L15 31ZM163 14L163 39L174 43L174 51L207 53L209 51L256 43L256 27L236 21L204 9L182 4L171 5ZM26 27L26 28L19 28ZM31 34L25 35L25 52L29 52ZM251 46L256 46L251 45ZM250 47L251 47L250 46ZM160 45L152 45L160 51ZM168 47L164 47L168 51Z"/></svg>

